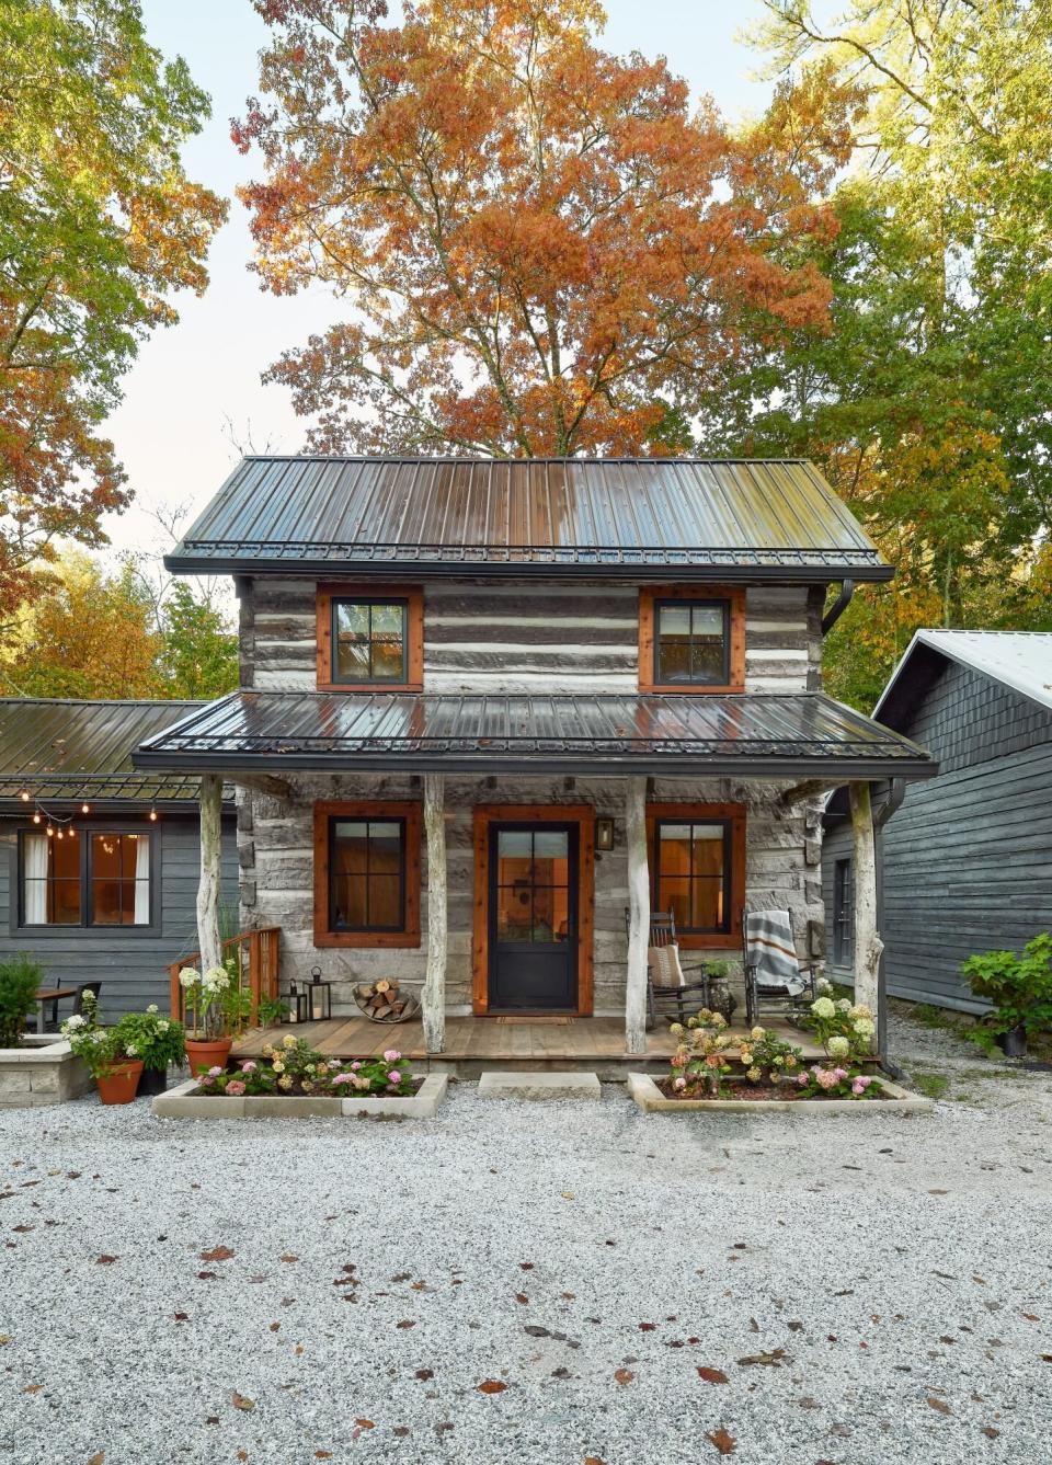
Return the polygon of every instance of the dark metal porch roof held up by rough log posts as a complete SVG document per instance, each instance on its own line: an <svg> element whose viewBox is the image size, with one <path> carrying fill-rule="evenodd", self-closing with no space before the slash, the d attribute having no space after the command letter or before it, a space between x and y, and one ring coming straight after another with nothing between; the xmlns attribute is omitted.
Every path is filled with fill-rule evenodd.
<svg viewBox="0 0 1052 1465"><path fill-rule="evenodd" d="M491 696L236 691L144 741L185 772L927 778L925 749L822 693Z"/></svg>

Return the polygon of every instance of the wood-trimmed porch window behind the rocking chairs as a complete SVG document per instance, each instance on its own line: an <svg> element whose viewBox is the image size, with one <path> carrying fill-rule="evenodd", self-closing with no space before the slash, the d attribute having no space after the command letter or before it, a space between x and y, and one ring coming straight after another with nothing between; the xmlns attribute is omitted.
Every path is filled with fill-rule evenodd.
<svg viewBox="0 0 1052 1465"><path fill-rule="evenodd" d="M649 804L651 901L673 911L683 946L734 946L741 935L741 804Z"/></svg>

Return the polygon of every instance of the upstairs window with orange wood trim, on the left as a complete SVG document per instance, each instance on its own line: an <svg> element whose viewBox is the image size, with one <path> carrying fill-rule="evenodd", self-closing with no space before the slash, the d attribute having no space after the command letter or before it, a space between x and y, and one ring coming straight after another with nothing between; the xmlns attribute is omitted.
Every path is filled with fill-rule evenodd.
<svg viewBox="0 0 1052 1465"><path fill-rule="evenodd" d="M318 687L421 691L423 592L404 586L318 586Z"/></svg>

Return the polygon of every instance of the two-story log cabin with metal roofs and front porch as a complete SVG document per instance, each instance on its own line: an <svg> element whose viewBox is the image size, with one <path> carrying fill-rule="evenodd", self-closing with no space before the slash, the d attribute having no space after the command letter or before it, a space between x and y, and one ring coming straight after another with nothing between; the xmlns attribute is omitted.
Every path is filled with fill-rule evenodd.
<svg viewBox="0 0 1052 1465"><path fill-rule="evenodd" d="M234 577L240 689L136 766L234 782L243 926L337 1014L416 983L429 1053L525 1017L643 1052L651 911L702 960L788 910L821 957L819 795L856 791L864 882L870 782L935 771L822 691L892 570L804 461L256 456L166 563Z"/></svg>

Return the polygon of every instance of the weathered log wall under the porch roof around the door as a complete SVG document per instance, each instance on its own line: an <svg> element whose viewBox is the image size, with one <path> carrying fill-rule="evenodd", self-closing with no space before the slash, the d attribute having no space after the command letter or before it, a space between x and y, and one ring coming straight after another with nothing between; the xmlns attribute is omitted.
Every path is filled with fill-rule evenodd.
<svg viewBox="0 0 1052 1465"><path fill-rule="evenodd" d="M818 832L813 809L777 812L782 785L741 784L733 779L655 779L653 800L661 803L746 804L746 901L753 907L790 908L797 948L804 955L822 949L822 895L818 870L807 861ZM312 932L312 829L314 803L324 798L422 800L422 788L406 776L296 778L293 797L273 798L240 793L240 844L243 858L242 920L245 926L281 927L281 970L286 977L306 977L314 965L334 983L334 1001L350 1009L353 982L381 976L422 983L426 964L426 898L422 901L421 945L413 949L318 949ZM445 779L445 844L448 891L447 1011L472 1009L472 924L475 861L472 812L475 804L586 804L598 816L615 820L611 851L595 856L595 1012L624 1011L626 935L624 908L629 879L624 848L624 781L577 778L573 790L551 778L501 778L498 788L479 778ZM426 848L423 892L428 889ZM721 952L708 952L718 957ZM738 960L737 935L728 936L725 955Z"/></svg>

